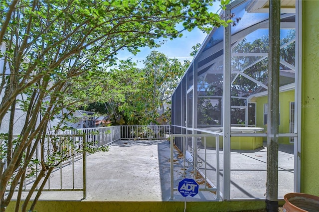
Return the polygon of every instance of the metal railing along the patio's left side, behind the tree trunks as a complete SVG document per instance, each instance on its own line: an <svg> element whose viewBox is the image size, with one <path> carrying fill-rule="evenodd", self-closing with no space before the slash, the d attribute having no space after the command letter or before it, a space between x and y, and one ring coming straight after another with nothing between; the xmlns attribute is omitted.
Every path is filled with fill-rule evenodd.
<svg viewBox="0 0 319 212"><path fill-rule="evenodd" d="M49 177L42 191L82 191L83 198L86 198L86 154L94 151L96 148L111 144L120 140L120 127L99 127L99 128L82 128L76 130L64 130L57 134L47 135L43 143L39 142L32 156L33 161L43 161L50 163L55 160L57 163L52 176ZM17 138L18 136L14 136ZM32 143L34 144L34 140ZM74 163L82 160L83 177L75 176ZM6 161L2 163L3 169L6 169ZM70 165L72 170L71 179L62 178L66 165ZM79 166L78 166L79 168ZM42 166L40 163L30 164L26 170L26 176L23 182L22 191L30 191L35 179L38 177ZM14 175L16 172L14 173ZM13 176L14 177L14 176ZM79 181L82 181L81 183ZM36 186L36 191L40 185ZM18 188L15 189L17 191ZM6 188L6 192L9 187Z"/></svg>

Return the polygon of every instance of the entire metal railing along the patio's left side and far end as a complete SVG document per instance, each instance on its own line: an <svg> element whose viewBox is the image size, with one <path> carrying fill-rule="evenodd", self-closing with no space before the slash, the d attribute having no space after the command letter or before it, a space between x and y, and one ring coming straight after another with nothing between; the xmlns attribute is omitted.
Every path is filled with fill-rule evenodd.
<svg viewBox="0 0 319 212"><path fill-rule="evenodd" d="M32 160L49 163L48 161L54 157L56 161L60 161L42 191L81 191L83 198L86 198L86 155L94 152L90 149L107 146L120 139L167 139L169 134L169 125L109 126L63 130L57 134L48 134L43 143L39 142ZM77 169L82 168L83 177L74 175L74 164L78 160L82 160L82 165L77 166ZM6 161L4 160L1 164L3 164L2 170L6 169ZM22 191L30 191L41 169L40 163L28 166ZM65 180L62 177L65 175L64 169L71 169L72 176L69 177L71 179ZM36 186L35 191L38 191L39 187L40 185ZM17 190L18 188L15 189ZM9 192L9 187L6 188L6 192Z"/></svg>

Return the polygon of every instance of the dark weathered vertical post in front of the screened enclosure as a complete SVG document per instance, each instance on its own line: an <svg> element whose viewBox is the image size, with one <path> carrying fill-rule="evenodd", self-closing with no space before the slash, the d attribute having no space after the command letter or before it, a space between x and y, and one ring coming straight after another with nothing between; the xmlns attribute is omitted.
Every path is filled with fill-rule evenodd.
<svg viewBox="0 0 319 212"><path fill-rule="evenodd" d="M269 1L267 212L278 212L280 0Z"/></svg>

